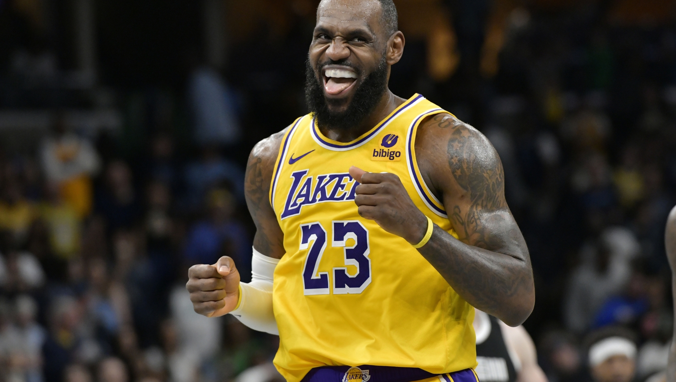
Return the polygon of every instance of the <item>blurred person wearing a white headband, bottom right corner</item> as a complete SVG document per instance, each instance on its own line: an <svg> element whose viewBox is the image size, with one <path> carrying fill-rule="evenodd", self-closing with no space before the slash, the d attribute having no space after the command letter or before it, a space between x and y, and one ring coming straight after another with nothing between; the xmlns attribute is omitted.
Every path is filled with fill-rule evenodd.
<svg viewBox="0 0 676 382"><path fill-rule="evenodd" d="M609 328L587 339L589 368L595 382L630 382L636 369L636 343L633 333Z"/></svg>

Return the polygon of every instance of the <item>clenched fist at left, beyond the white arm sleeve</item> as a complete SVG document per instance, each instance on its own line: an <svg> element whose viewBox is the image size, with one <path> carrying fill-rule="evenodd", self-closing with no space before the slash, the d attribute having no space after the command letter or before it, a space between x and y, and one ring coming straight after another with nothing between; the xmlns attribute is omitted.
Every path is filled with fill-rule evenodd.
<svg viewBox="0 0 676 382"><path fill-rule="evenodd" d="M216 264L197 264L188 270L188 283L195 312L207 317L218 317L235 310L239 300L239 272L228 256Z"/></svg>

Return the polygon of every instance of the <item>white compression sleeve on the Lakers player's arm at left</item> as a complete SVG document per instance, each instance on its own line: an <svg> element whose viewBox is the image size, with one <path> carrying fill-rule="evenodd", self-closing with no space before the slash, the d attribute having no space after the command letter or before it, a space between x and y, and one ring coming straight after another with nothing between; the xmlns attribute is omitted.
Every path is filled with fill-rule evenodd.
<svg viewBox="0 0 676 382"><path fill-rule="evenodd" d="M251 283L239 283L239 306L230 314L251 329L279 335L272 312L272 275L277 263L279 259L268 258L254 248Z"/></svg>

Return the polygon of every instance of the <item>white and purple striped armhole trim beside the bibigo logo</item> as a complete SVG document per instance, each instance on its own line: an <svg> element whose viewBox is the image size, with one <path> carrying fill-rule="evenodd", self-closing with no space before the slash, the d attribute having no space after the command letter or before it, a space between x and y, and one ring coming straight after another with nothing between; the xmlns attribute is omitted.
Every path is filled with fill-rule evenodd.
<svg viewBox="0 0 676 382"><path fill-rule="evenodd" d="M448 113L448 112L446 112L441 108L435 108L423 112L423 114L418 115L413 120L410 127L408 128L408 133L406 134L406 164L408 166L408 173L411 176L413 185L416 191L418 191L420 199L423 199L425 206L427 206L429 210L431 210L438 216L448 219L448 215L446 214L446 211L443 208L443 204L441 204L441 201L439 201L439 199L437 199L437 197L435 197L434 194L430 191L429 187L427 187L425 179L423 179L423 176L420 173L420 168L418 168L418 160L416 159L416 149L415 149L416 135L418 133L418 126L420 126L420 123L423 122L425 118L440 113Z"/></svg>

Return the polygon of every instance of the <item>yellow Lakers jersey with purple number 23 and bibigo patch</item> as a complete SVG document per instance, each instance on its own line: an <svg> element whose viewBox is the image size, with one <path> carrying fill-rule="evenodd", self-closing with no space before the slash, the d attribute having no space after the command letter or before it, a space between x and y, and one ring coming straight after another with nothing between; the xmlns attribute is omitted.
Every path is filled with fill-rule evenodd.
<svg viewBox="0 0 676 382"><path fill-rule="evenodd" d="M359 216L347 173L397 174L416 206L457 237L414 150L420 121L440 112L416 94L349 143L324 137L312 114L287 130L270 187L286 250L274 270L274 364L287 381L318 366L476 366L474 309L406 240Z"/></svg>

